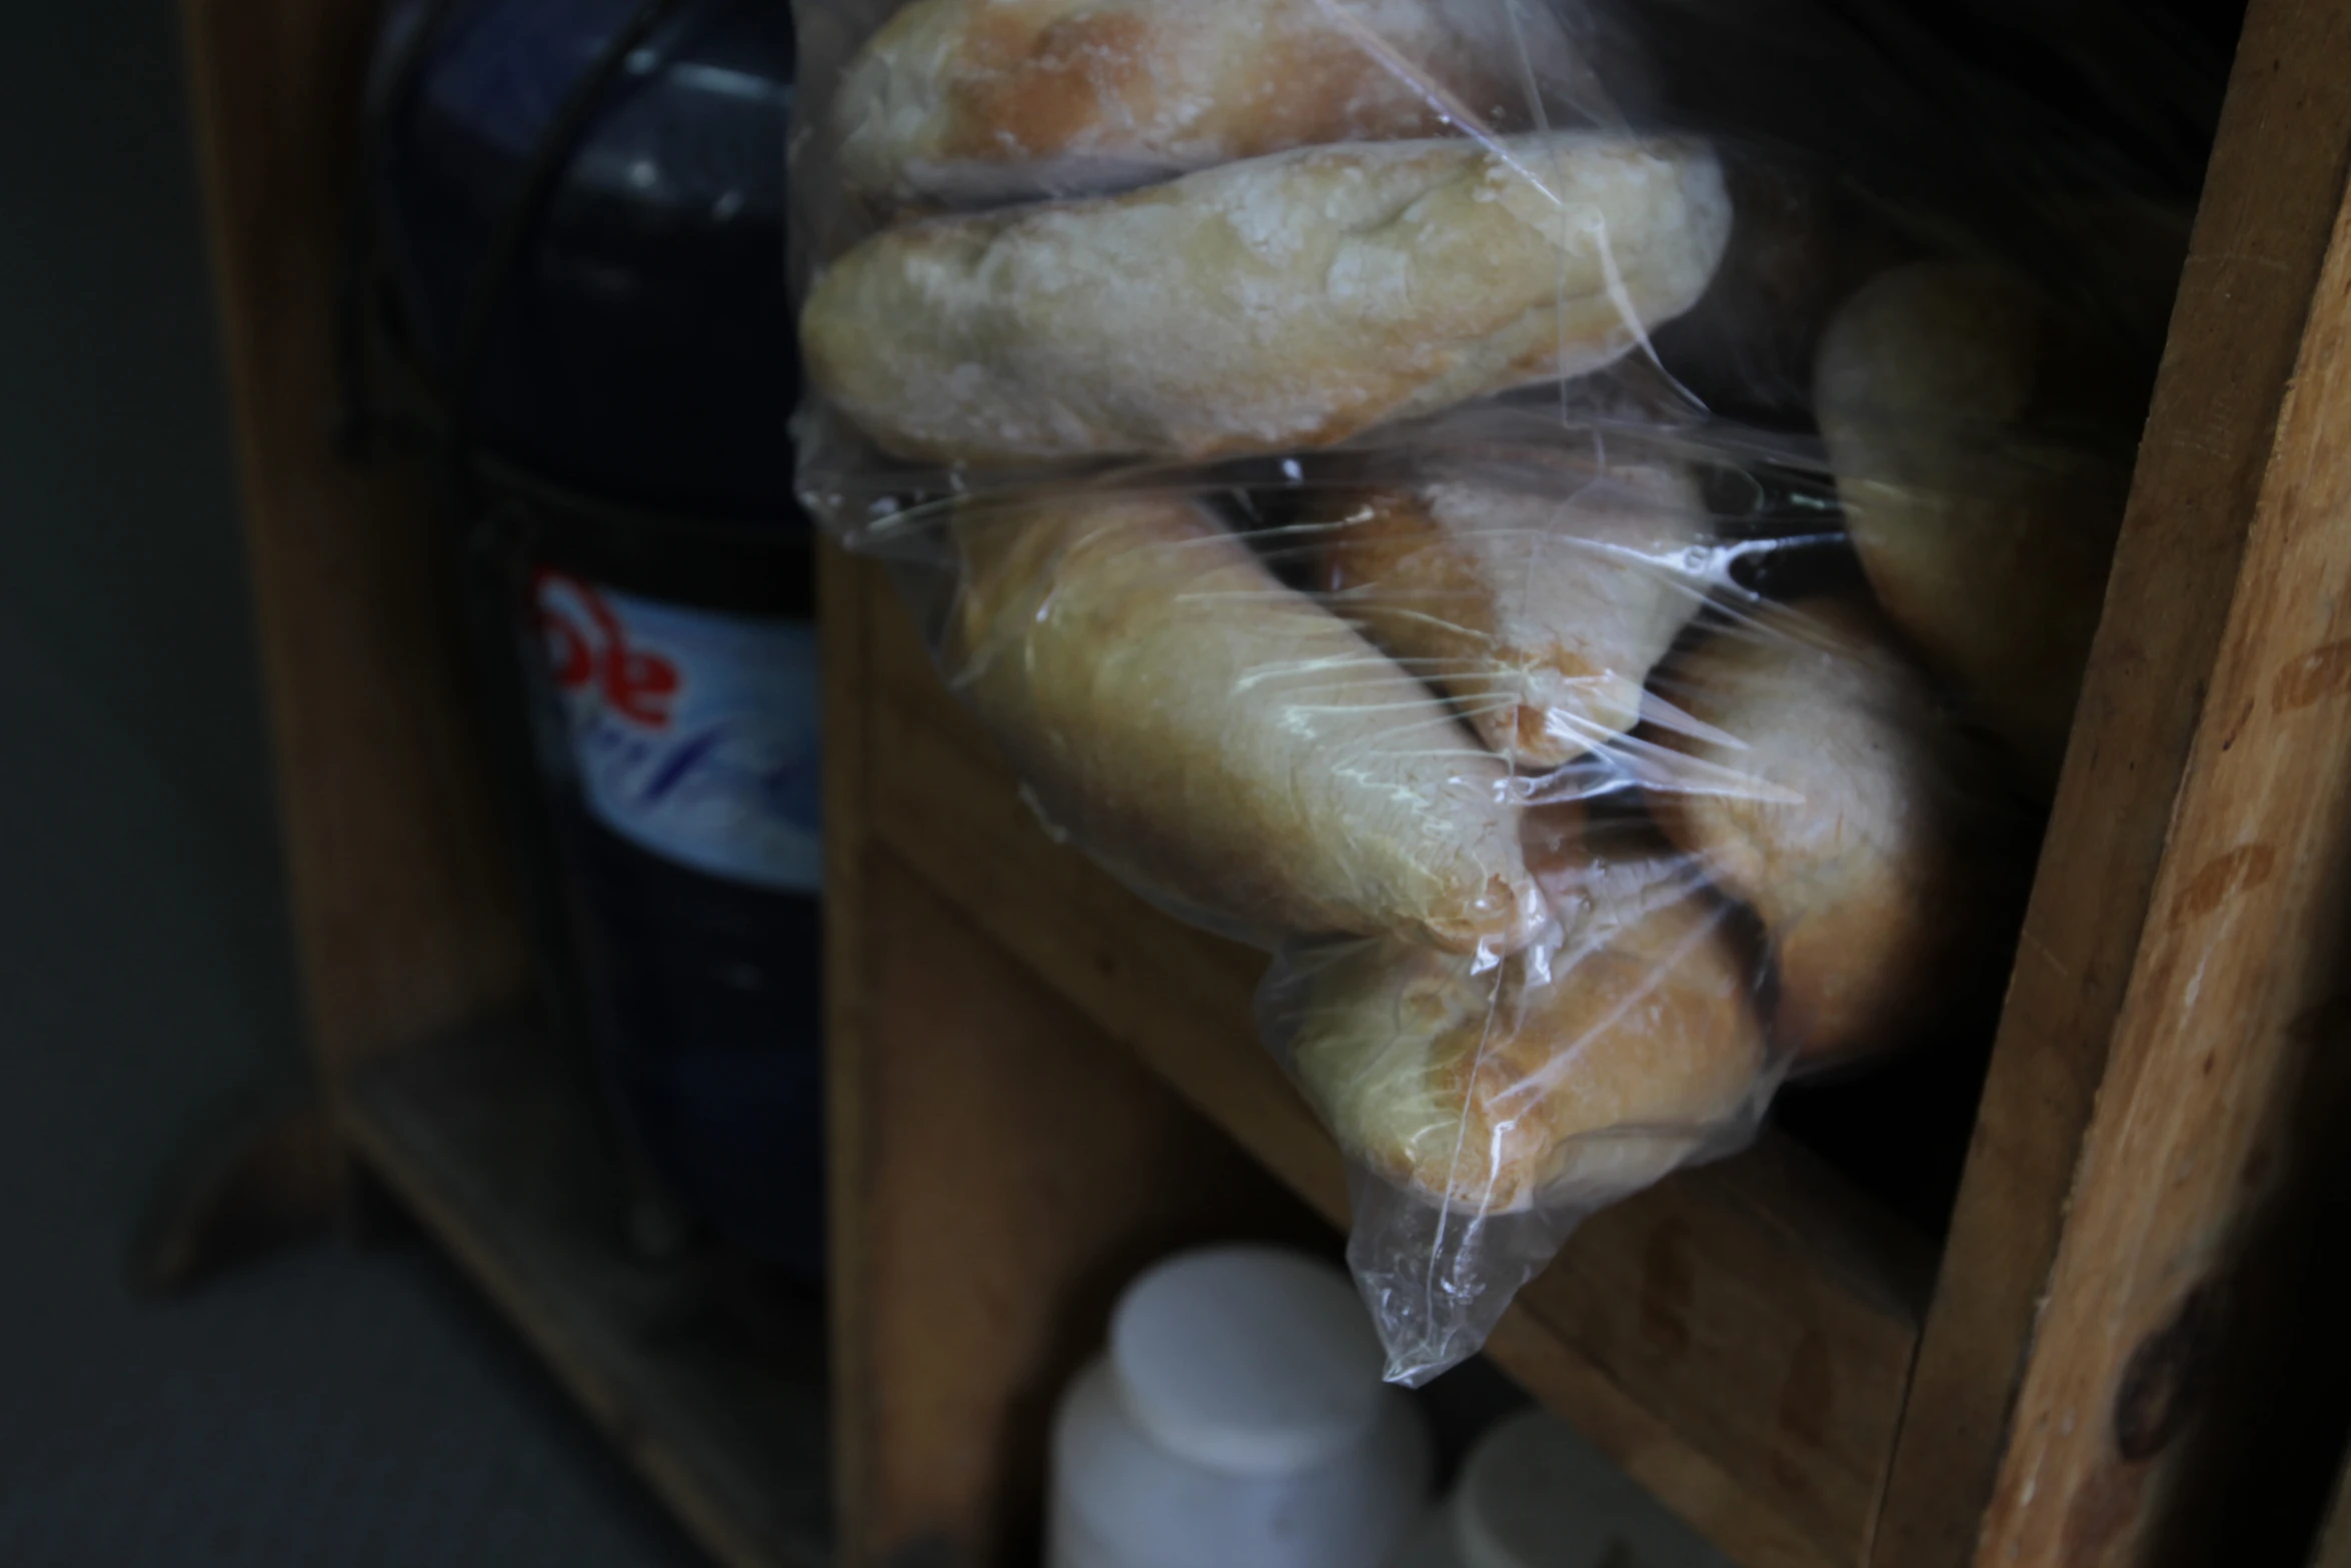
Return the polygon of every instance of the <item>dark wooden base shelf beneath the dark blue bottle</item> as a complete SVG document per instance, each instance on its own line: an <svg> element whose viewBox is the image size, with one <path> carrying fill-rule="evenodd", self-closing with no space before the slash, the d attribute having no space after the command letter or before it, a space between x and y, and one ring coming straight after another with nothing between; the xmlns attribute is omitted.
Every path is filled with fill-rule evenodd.
<svg viewBox="0 0 2351 1568"><path fill-rule="evenodd" d="M475 1030L386 1056L353 1081L343 1126L722 1563L832 1561L816 1293L724 1253L628 1258L595 1107L536 1037Z"/></svg>

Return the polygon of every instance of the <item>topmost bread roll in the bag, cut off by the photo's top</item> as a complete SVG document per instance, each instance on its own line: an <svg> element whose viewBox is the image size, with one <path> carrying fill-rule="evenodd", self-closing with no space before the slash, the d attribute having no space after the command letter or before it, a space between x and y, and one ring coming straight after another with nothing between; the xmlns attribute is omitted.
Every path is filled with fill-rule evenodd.
<svg viewBox="0 0 2351 1568"><path fill-rule="evenodd" d="M842 181L964 207L1448 120L1509 129L1500 19L1481 0L915 0L842 75Z"/></svg>

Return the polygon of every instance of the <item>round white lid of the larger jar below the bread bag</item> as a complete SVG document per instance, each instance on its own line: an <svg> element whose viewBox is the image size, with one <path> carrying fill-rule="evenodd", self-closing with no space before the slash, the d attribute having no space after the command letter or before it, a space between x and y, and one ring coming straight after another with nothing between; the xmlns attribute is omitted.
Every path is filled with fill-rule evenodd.
<svg viewBox="0 0 2351 1568"><path fill-rule="evenodd" d="M1364 1439L1380 1342L1331 1265L1272 1246L1180 1253L1110 1319L1119 1403L1161 1448L1234 1474L1291 1474Z"/></svg>

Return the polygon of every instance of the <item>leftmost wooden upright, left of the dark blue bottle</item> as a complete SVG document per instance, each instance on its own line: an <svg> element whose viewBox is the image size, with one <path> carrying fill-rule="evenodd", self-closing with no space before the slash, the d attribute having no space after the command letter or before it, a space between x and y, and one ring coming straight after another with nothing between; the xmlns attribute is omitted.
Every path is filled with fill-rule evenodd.
<svg viewBox="0 0 2351 1568"><path fill-rule="evenodd" d="M310 1041L517 1001L524 940L461 670L447 524L334 447L336 266L374 0L181 0Z"/></svg>

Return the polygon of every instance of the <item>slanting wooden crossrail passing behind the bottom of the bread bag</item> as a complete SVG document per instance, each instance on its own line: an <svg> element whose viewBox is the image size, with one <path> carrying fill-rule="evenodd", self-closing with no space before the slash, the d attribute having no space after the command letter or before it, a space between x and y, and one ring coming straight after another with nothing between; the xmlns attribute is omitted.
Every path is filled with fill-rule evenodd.
<svg viewBox="0 0 2351 1568"><path fill-rule="evenodd" d="M828 599L828 614L868 618L856 717L872 733L870 832L1342 1220L1338 1150L1255 1041L1262 954L1166 919L1053 846L879 574L837 574L870 595ZM1592 1220L1493 1354L1742 1563L1857 1563L1928 1269L1916 1234L1768 1138Z"/></svg>

